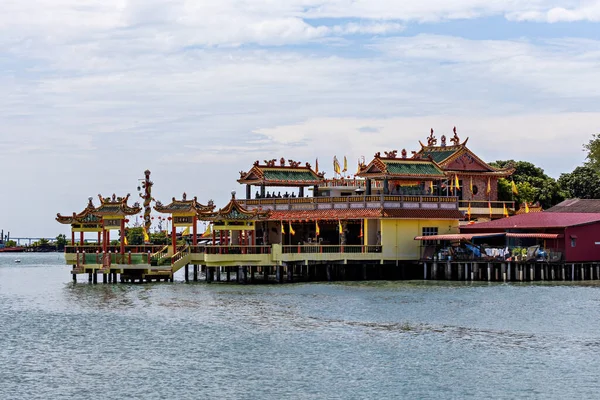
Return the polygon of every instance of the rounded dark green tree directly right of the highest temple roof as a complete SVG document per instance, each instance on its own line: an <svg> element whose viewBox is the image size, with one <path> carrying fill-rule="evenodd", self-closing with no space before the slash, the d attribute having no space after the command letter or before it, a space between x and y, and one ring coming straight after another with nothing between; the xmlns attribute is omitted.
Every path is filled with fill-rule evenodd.
<svg viewBox="0 0 600 400"><path fill-rule="evenodd" d="M490 165L497 168L513 166L514 174L509 179L498 180L498 200L514 200L517 207L523 202L539 202L543 208L552 207L565 199L565 190L554 180L544 173L540 167L527 161L500 160ZM517 195L514 195L511 180L517 186Z"/></svg>

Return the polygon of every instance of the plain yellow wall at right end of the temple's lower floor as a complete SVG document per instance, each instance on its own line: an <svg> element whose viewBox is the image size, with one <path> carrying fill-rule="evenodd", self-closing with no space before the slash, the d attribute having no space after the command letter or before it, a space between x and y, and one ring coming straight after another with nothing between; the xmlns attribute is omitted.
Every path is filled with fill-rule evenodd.
<svg viewBox="0 0 600 400"><path fill-rule="evenodd" d="M423 234L423 228L438 228L438 234L458 233L458 221L449 220L381 220L381 244L383 258L418 260L421 242L415 236Z"/></svg>

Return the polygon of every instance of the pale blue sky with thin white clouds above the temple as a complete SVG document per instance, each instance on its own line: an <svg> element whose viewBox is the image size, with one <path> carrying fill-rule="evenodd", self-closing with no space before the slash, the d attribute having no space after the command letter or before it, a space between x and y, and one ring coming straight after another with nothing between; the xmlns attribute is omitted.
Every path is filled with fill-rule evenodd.
<svg viewBox="0 0 600 400"><path fill-rule="evenodd" d="M56 213L137 198L146 169L157 200L222 207L255 160L330 177L431 128L558 177L600 132L599 22L586 0L3 0L0 229L68 233Z"/></svg>

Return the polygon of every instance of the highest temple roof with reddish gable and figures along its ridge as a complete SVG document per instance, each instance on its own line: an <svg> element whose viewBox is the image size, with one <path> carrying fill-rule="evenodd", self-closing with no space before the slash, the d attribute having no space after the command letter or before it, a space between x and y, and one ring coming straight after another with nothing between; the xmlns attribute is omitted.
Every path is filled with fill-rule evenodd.
<svg viewBox="0 0 600 400"><path fill-rule="evenodd" d="M493 176L510 176L514 173L515 169L512 167L495 168L487 164L467 148L469 138L461 143L456 133L456 127L454 127L453 132L454 136L450 138L451 145L446 145L446 135L442 135L441 145L436 146L437 139L433 136L432 129L427 138L427 145L419 141L421 150L413 152L413 158L433 160L446 172L469 172L471 174Z"/></svg>

